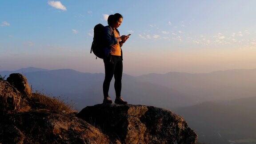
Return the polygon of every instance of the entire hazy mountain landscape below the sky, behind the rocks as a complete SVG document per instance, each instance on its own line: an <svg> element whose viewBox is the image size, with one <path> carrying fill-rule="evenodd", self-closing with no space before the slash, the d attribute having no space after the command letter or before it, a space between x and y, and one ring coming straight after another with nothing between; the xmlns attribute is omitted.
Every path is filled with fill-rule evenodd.
<svg viewBox="0 0 256 144"><path fill-rule="evenodd" d="M104 73L22 68L32 90L60 96L77 110L103 100ZM114 78L109 95L115 98ZM256 143L256 69L210 73L123 74L122 96L130 104L168 108L188 121L207 144Z"/></svg>

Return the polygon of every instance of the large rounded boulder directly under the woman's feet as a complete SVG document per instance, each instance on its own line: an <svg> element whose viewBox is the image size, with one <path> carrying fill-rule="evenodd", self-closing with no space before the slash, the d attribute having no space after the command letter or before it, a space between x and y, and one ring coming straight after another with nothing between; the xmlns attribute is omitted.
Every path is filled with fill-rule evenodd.
<svg viewBox="0 0 256 144"><path fill-rule="evenodd" d="M153 106L97 104L76 116L126 144L194 144L197 140L182 117Z"/></svg>

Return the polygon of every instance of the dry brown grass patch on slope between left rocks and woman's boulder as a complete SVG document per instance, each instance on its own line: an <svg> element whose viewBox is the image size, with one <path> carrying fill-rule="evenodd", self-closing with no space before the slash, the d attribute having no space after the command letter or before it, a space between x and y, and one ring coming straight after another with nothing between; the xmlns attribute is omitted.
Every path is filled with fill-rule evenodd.
<svg viewBox="0 0 256 144"><path fill-rule="evenodd" d="M44 108L55 112L76 112L72 109L73 106L71 104L66 104L60 96L50 97L45 94L35 92L32 93L31 98L29 98L29 103L32 109Z"/></svg>

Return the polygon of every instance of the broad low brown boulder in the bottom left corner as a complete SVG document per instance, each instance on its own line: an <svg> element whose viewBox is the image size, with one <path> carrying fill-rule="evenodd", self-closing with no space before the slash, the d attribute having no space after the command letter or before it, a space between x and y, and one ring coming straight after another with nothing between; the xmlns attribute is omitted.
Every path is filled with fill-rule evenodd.
<svg viewBox="0 0 256 144"><path fill-rule="evenodd" d="M40 109L6 115L4 120L0 120L0 142L109 144L109 139L98 128L76 116Z"/></svg>

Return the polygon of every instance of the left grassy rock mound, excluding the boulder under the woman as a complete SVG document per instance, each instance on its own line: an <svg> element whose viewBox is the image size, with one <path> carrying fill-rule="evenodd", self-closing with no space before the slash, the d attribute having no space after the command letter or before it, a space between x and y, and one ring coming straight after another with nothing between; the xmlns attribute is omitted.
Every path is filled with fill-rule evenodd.
<svg viewBox="0 0 256 144"><path fill-rule="evenodd" d="M12 84L0 80L0 144L109 144L108 136L61 101L38 93L29 96L20 86L28 84L26 78L16 76L22 79L8 79Z"/></svg>

